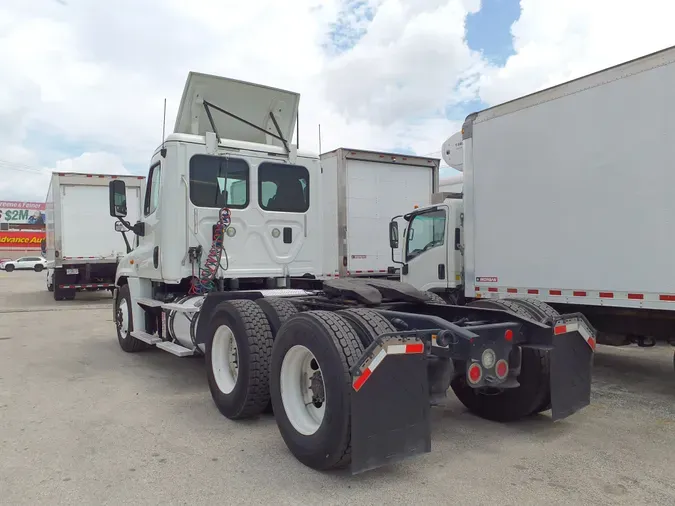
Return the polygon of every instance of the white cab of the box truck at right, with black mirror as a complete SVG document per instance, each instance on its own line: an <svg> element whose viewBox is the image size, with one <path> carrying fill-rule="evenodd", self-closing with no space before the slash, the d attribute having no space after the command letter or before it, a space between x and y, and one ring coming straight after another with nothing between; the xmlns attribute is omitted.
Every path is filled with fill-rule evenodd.
<svg viewBox="0 0 675 506"><path fill-rule="evenodd" d="M401 281L457 302L464 284L462 194L436 193L432 205L403 218ZM390 227L390 246L398 246L397 222Z"/></svg>

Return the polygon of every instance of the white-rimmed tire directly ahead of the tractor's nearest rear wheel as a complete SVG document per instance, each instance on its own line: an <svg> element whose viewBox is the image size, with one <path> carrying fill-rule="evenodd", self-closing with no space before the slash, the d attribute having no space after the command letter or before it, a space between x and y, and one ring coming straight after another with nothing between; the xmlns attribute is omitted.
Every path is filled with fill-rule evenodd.
<svg viewBox="0 0 675 506"><path fill-rule="evenodd" d="M270 400L274 342L265 313L251 300L221 302L208 328L206 375L213 402L230 420L259 415ZM235 370L229 357L236 357Z"/></svg>

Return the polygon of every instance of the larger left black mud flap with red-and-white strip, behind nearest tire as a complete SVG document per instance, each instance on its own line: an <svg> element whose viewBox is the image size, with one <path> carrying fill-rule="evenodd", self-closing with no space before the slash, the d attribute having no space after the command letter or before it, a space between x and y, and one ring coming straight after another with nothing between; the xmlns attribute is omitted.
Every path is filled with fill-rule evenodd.
<svg viewBox="0 0 675 506"><path fill-rule="evenodd" d="M430 452L429 381L422 341L378 340L351 372L352 474Z"/></svg>

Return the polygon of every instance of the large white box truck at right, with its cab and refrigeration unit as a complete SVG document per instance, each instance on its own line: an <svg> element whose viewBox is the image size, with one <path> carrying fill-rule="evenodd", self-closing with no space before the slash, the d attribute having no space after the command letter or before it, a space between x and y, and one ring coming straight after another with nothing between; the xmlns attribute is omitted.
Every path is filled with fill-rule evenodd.
<svg viewBox="0 0 675 506"><path fill-rule="evenodd" d="M675 47L469 115L443 145L463 201L408 216L448 240L415 254L408 237L402 279L580 312L604 344L675 344L674 83Z"/></svg>

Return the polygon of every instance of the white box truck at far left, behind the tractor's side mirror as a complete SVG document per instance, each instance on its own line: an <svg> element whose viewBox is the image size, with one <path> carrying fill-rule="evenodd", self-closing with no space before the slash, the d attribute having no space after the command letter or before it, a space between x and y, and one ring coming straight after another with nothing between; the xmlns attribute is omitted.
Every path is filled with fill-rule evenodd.
<svg viewBox="0 0 675 506"><path fill-rule="evenodd" d="M55 172L46 199L47 289L55 300L72 300L78 291L115 286L118 259L127 253L125 237L108 213L108 183L129 187L128 216L140 218L144 176Z"/></svg>

